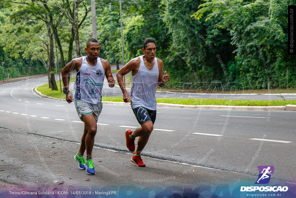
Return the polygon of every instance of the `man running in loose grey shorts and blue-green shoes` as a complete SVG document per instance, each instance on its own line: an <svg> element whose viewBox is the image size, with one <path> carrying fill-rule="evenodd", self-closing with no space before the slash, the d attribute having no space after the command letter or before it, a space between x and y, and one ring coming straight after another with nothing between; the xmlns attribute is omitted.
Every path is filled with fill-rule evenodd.
<svg viewBox="0 0 296 198"><path fill-rule="evenodd" d="M85 169L87 174L95 174L91 153L94 147L97 121L102 111L101 99L104 77L107 78L109 87L115 86L115 80L112 77L110 63L99 58L99 42L91 38L87 41L84 49L87 56L74 58L68 63L62 70L62 80L66 101L68 103L75 101L78 116L84 122L80 149L75 154L74 159L78 162L79 169ZM68 87L68 73L74 70L77 75L72 96ZM83 157L85 151L86 160Z"/></svg>

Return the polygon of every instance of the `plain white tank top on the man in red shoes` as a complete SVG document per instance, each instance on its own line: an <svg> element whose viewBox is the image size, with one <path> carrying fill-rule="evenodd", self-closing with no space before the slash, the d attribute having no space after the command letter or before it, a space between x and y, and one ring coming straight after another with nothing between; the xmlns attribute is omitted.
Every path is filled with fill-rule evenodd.
<svg viewBox="0 0 296 198"><path fill-rule="evenodd" d="M159 70L157 58L154 58L153 69L145 67L143 57L140 56L141 63L139 71L133 76L131 88L131 107L146 107L149 110L156 110L155 92L158 84Z"/></svg>

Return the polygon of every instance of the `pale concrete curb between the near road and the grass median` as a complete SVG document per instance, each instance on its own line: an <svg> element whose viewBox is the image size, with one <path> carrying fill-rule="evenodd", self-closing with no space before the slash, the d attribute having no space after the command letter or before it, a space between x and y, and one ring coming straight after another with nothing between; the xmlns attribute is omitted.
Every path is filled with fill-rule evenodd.
<svg viewBox="0 0 296 198"><path fill-rule="evenodd" d="M46 84L46 83L45 83ZM59 101L66 101L65 99L53 98L46 96L37 91L38 85L32 88L32 91L42 98L49 98ZM125 102L110 102L102 101L103 104L116 104L116 105L131 105ZM227 105L185 105L185 104L168 104L168 103L157 103L157 107L173 107L173 108L186 108L186 109L213 109L213 110L252 110L252 111L296 111L296 105L287 104L286 106L227 106Z"/></svg>

